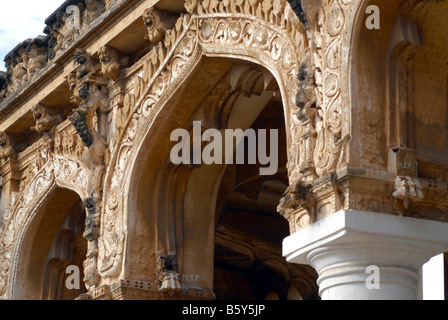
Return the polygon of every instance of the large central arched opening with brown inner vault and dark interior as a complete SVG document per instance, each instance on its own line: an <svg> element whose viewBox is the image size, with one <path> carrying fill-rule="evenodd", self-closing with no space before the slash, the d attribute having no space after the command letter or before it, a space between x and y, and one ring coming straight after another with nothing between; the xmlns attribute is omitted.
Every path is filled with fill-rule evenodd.
<svg viewBox="0 0 448 320"><path fill-rule="evenodd" d="M275 292L286 299L291 286L300 292L295 297L314 297L315 272L289 265L281 253L289 232L287 221L277 214L288 185L287 138L283 101L272 74L242 60L202 59L162 110L142 142L130 178L124 277L166 289L164 277L170 273L181 294L190 298L262 300ZM178 129L188 135L188 164L172 160L179 144L172 133ZM209 153L221 163L195 162L198 134L204 152L217 141L216 136L204 138L208 130L225 136L229 129L255 133L255 140L243 139L249 143L244 144L242 164L236 164L236 144L231 147L233 162L229 160L225 138ZM277 170L269 175L260 171L266 163L249 159L249 149L260 146L260 130L267 132L265 156L274 152L277 158ZM270 139L273 132L278 139ZM240 288L229 288L228 277L246 279Z"/></svg>

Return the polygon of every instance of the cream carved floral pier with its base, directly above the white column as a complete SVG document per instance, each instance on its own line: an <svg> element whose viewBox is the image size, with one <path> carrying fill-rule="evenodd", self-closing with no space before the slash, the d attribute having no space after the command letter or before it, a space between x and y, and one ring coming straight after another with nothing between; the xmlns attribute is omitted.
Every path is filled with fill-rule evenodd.
<svg viewBox="0 0 448 320"><path fill-rule="evenodd" d="M294 8L306 29L308 46L298 75L296 107L291 109L291 186L278 207L290 221L291 232L326 216L328 208L334 211L341 207L335 182L324 181L347 164L350 136L344 121L348 110L343 105L342 75L343 44L352 1L308 0ZM319 188L319 181L322 185L328 183L335 195Z"/></svg>

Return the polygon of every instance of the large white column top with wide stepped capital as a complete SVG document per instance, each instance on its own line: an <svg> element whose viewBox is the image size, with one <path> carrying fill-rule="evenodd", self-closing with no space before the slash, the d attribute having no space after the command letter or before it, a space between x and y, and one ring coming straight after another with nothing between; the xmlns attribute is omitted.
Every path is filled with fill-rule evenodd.
<svg viewBox="0 0 448 320"><path fill-rule="evenodd" d="M448 223L340 211L283 242L289 262L311 265L323 300L416 300L418 271L448 251Z"/></svg>

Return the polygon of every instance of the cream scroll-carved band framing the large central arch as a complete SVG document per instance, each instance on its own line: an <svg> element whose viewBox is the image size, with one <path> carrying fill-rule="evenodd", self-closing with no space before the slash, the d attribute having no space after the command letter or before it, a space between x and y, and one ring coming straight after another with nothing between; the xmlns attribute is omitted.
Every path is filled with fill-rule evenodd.
<svg viewBox="0 0 448 320"><path fill-rule="evenodd" d="M117 280L126 241L128 191L132 167L156 115L202 57L231 57L266 67L276 78L285 109L294 104L297 70L306 37L294 23L286 1L274 5L222 2L181 16L155 45L133 78L133 89L115 113L115 145L107 169L101 216L98 267L103 279ZM227 3L227 4L226 4ZM235 10L237 12L235 12ZM132 81L132 80L131 80ZM289 117L286 119L290 125Z"/></svg>

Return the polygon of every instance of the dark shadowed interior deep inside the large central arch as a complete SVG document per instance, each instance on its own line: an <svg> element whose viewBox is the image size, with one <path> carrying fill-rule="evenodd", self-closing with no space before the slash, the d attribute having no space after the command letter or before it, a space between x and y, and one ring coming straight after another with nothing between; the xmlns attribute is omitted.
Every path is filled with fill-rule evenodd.
<svg viewBox="0 0 448 320"><path fill-rule="evenodd" d="M312 288L300 279L303 270L288 264L281 254L283 239L289 235L288 222L277 213L288 186L286 128L281 110L282 101L272 98L250 126L255 131L279 130L277 173L263 176L259 165L233 164L227 166L221 180L213 283L218 300L287 300L294 284L306 298L312 295ZM249 146L245 148L247 154Z"/></svg>

